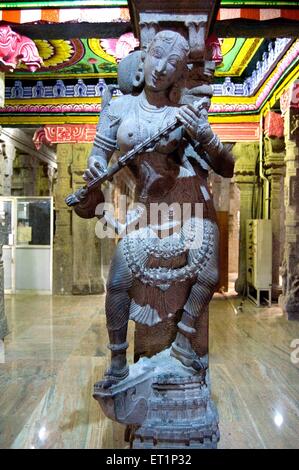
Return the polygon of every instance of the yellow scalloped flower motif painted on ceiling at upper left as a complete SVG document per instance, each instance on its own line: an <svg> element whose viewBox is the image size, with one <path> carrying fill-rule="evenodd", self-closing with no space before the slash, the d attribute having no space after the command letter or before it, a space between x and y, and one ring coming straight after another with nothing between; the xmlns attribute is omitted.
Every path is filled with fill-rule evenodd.
<svg viewBox="0 0 299 470"><path fill-rule="evenodd" d="M64 39L36 39L34 42L45 67L62 64L74 54L71 42Z"/></svg>

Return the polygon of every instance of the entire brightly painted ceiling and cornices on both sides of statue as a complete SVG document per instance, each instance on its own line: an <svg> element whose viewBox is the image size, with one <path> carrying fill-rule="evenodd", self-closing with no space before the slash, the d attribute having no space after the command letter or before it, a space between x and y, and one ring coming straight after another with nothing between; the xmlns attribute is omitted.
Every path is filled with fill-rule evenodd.
<svg viewBox="0 0 299 470"><path fill-rule="evenodd" d="M216 25L223 24L225 36L226 25L235 25L238 20L241 25L244 20L254 20L248 21L253 25L267 20L299 20L297 6L299 1L222 0ZM127 2L0 1L1 21L2 24L26 24L19 26L20 30L28 28L31 31L38 25L39 29L35 29L33 35L38 39L33 44L43 63L34 74L24 65L12 74L6 74L6 105L0 108L0 123L95 124L101 110L104 79L107 83L116 83L118 61L138 47L137 39L132 33L122 34L119 38L107 38L105 33L106 37L104 34L99 39L92 37L92 29L90 34L85 37L82 34L78 39L70 39L64 31L61 36L67 39L59 39L59 35L57 39L55 36L50 39L42 34L39 36L39 32L43 31L44 24L50 24L52 33L54 30L56 34L59 27L61 30L59 24L67 23L63 30L69 28L73 34L72 25L76 23L81 34L81 24L84 32L84 24L98 23L93 26L97 35L103 25L109 23L112 31L115 28L120 31L115 35L120 35L128 30L126 23L130 22ZM231 30L234 27L231 26ZM278 27L281 27L280 23ZM241 30L236 34L240 35ZM214 122L227 123L229 119L241 122L245 118L246 122L252 123L250 132L253 135L256 132L253 124L266 103L269 100L274 103L289 81L299 75L299 40L249 37L248 31L246 36L221 40L210 111ZM114 90L115 96L118 93Z"/></svg>

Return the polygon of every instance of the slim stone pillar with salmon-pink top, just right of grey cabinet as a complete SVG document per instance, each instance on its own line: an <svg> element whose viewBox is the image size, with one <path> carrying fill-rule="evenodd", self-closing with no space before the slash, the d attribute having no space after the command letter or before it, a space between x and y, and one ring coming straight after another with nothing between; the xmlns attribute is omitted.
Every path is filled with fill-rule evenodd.
<svg viewBox="0 0 299 470"><path fill-rule="evenodd" d="M283 119L270 112L265 119L265 174L270 182L270 219L272 221L272 299L277 300L282 292L279 280L284 245L284 173L285 145Z"/></svg>

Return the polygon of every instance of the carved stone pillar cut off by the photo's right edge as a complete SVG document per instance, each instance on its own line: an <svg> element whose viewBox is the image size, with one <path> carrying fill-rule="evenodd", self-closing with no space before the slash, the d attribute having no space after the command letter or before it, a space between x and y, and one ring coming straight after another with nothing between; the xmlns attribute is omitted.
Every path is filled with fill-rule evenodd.
<svg viewBox="0 0 299 470"><path fill-rule="evenodd" d="M289 320L299 320L299 80L281 100L286 145L285 243L280 303Z"/></svg>

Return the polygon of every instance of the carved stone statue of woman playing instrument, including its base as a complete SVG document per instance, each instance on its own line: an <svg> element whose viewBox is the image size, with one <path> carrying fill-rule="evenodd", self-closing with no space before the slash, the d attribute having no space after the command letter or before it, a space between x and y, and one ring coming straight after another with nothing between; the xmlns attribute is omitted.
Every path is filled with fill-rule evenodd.
<svg viewBox="0 0 299 470"><path fill-rule="evenodd" d="M108 416L133 427L144 425L144 420L157 413L154 410L163 401L157 398L160 393L164 393L166 406L166 389L169 403L185 397L190 404L187 428L193 416L196 423L202 422L199 414L205 403L205 426L210 430L204 431L204 426L197 424L196 438L188 431L188 442L194 439L204 446L208 436L207 447L213 447L219 432L216 412L208 411L212 409L206 377L208 362L196 347L198 320L207 311L219 276L219 233L207 176L212 168L231 177L234 163L207 120L212 64L190 68L189 52L183 35L166 30L154 36L145 52L134 52L120 63L119 83L126 94L104 106L84 173L87 188L107 179L109 160L119 149L124 155L120 160L136 180L136 205L127 217L127 224L133 220L135 230L119 241L107 282L111 364L95 385L95 396L100 397ZM133 156L126 159L126 155ZM70 204L82 202L83 212L77 212L81 216L85 209L90 216L84 203L86 191L68 200ZM91 194L94 205L102 200L94 190ZM166 211L160 219L153 218L152 207L161 203ZM102 215L114 227L120 226L113 217ZM169 350L152 359L140 359L129 368L129 319L157 327L178 318L178 314L177 334ZM145 436L154 439L149 431L151 423L143 426L140 442L146 441ZM167 435L164 441L181 442L182 431L174 438L171 425L167 431L164 425L159 432L156 425L153 432ZM136 440L136 429L133 434ZM140 442L135 446L142 447Z"/></svg>

